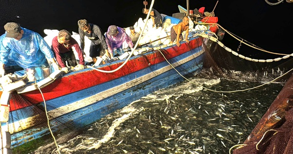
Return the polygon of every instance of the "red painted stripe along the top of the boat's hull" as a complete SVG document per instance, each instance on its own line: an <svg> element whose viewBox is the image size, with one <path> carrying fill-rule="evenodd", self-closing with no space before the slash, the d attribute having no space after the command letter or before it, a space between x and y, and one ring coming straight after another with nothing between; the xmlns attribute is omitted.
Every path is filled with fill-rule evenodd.
<svg viewBox="0 0 293 154"><path fill-rule="evenodd" d="M165 55L167 59L174 58L178 55L181 55L185 52L190 51L191 49L197 48L202 45L202 41L200 38L190 40L190 43L181 44L180 47L172 46L167 47L166 50L160 49L161 52ZM120 78L124 75L133 73L135 71L144 69L148 67L148 65L155 65L165 61L165 58L161 55L160 52L154 51L149 52L150 54L146 54L140 56L135 59L129 59L125 66L121 69L113 72L113 73L104 73L97 70L89 69L84 70L79 73L68 74L62 78L56 79L52 84L42 88L42 93L45 100L50 100L54 98L61 97L63 95L73 93L79 90L83 90L89 87L93 87L117 78ZM114 70L117 67L121 66L121 63L111 64L109 66L103 66L99 69L103 70ZM39 90L34 90L26 93L22 93L21 96L25 98L30 103L24 103L22 99L13 99L10 100L11 110L18 110L21 108L25 108L27 106L38 104L43 102L42 95Z"/></svg>

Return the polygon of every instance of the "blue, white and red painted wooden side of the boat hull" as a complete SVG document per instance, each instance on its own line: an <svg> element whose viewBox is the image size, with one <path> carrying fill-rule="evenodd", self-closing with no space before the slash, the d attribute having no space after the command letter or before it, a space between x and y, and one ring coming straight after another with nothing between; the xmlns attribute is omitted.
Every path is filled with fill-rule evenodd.
<svg viewBox="0 0 293 154"><path fill-rule="evenodd" d="M53 132L84 128L155 90L183 81L181 75L199 72L203 53L202 38L195 37L180 47L172 45L131 57L115 72L86 68L56 79L41 89L42 94L39 90L13 92L9 121L2 128L12 134L11 147L49 134L46 113ZM123 62L115 61L98 69L114 70Z"/></svg>

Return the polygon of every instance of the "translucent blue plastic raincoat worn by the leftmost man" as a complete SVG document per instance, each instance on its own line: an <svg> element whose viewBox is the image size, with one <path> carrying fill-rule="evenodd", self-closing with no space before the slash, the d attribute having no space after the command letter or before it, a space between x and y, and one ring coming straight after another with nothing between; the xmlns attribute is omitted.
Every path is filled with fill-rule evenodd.
<svg viewBox="0 0 293 154"><path fill-rule="evenodd" d="M21 40L0 36L0 63L7 64L12 59L22 68L42 66L46 58L52 59L54 53L40 34L28 30L24 31Z"/></svg>

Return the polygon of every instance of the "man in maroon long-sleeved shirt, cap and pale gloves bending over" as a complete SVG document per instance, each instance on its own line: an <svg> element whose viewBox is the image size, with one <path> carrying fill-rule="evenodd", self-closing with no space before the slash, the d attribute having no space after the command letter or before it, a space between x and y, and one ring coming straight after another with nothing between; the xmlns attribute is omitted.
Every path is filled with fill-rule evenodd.
<svg viewBox="0 0 293 154"><path fill-rule="evenodd" d="M61 70L65 73L69 73L69 69L66 66L76 67L76 70L84 69L84 56L83 51L77 41L71 37L67 30L61 30L58 36L52 40L52 50L55 53L56 60L61 66ZM79 65L76 63L74 52L78 53Z"/></svg>

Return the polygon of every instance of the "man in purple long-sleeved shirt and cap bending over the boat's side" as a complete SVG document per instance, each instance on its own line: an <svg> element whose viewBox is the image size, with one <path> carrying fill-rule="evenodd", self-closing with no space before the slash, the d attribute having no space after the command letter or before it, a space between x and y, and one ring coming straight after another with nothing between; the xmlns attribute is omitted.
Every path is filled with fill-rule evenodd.
<svg viewBox="0 0 293 154"><path fill-rule="evenodd" d="M111 58L113 58L113 51L115 52L115 50L120 50L124 52L122 49L122 45L124 42L126 42L131 50L133 50L132 41L130 37L126 34L125 30L116 25L110 25L106 33L106 43Z"/></svg>

